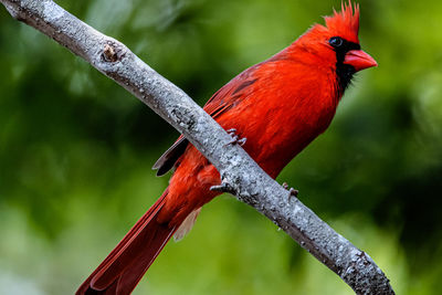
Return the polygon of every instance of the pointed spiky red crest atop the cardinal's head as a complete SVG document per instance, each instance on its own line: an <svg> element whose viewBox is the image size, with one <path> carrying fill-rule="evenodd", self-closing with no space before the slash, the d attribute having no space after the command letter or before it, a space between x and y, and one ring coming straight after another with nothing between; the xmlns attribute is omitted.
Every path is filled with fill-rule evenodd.
<svg viewBox="0 0 442 295"><path fill-rule="evenodd" d="M325 23L329 32L335 33L348 41L359 43L359 4L341 4L341 11L334 10L333 15L325 17Z"/></svg>

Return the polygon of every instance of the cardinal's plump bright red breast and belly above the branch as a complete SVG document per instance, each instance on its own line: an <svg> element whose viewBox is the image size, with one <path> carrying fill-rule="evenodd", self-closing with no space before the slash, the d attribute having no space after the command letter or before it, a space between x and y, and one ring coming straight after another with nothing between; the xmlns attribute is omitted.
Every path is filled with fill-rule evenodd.
<svg viewBox="0 0 442 295"><path fill-rule="evenodd" d="M309 88L266 87L221 124L246 138L244 149L272 177L322 134L335 115L335 92L322 85Z"/></svg>

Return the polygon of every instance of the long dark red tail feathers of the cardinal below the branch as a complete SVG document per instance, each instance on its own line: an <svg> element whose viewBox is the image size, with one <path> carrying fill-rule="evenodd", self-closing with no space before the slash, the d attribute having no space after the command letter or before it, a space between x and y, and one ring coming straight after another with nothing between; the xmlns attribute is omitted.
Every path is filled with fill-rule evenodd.
<svg viewBox="0 0 442 295"><path fill-rule="evenodd" d="M176 231L176 228L156 221L167 193L166 189L158 201L80 286L76 295L130 294Z"/></svg>

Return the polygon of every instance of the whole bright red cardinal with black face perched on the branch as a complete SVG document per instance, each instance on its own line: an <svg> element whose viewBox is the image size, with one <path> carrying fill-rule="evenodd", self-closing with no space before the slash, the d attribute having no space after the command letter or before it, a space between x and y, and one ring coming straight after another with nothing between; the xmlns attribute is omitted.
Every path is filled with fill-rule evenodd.
<svg viewBox="0 0 442 295"><path fill-rule="evenodd" d="M343 6L325 22L239 74L204 106L246 138L243 148L273 178L328 127L352 75L377 65L360 50L358 6ZM182 238L219 194L210 190L219 172L182 136L154 168L159 176L176 169L169 187L76 294L130 294L171 235Z"/></svg>

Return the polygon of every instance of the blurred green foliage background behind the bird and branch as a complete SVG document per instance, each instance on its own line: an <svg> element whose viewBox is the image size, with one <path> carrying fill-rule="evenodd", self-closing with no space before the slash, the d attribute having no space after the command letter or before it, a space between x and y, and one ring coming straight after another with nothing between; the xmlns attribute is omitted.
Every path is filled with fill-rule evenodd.
<svg viewBox="0 0 442 295"><path fill-rule="evenodd" d="M203 104L339 1L57 1ZM360 1L358 74L327 133L278 177L367 251L398 294L442 277L442 2ZM0 9L0 294L72 294L160 196L178 136L80 57ZM231 197L204 207L134 294L352 294Z"/></svg>

